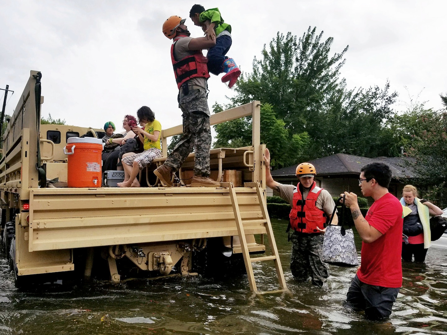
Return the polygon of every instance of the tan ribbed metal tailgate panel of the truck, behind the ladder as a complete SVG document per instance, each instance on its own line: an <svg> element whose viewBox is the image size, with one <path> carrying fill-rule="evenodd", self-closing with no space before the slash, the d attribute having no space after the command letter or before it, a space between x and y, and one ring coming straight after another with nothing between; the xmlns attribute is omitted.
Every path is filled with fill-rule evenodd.
<svg viewBox="0 0 447 335"><path fill-rule="evenodd" d="M264 234L256 190L237 188L237 197L241 217L253 220L246 233ZM237 235L225 189L36 189L29 215L29 251Z"/></svg>

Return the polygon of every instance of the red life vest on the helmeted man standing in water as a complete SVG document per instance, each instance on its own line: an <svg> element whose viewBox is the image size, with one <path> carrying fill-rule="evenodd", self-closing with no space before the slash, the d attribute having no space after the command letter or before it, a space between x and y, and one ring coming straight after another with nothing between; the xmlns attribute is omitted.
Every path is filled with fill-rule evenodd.
<svg viewBox="0 0 447 335"><path fill-rule="evenodd" d="M318 233L316 227L324 229L326 214L322 209L316 207L316 199L323 188L316 186L313 182L306 200L299 191L299 184L293 191L292 209L289 214L290 225L293 230L301 233Z"/></svg>

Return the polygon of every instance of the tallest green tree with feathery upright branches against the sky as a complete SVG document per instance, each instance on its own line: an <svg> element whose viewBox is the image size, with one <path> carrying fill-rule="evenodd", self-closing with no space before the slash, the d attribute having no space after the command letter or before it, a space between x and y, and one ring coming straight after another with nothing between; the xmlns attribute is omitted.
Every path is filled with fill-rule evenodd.
<svg viewBox="0 0 447 335"><path fill-rule="evenodd" d="M268 49L264 45L262 59L254 58L253 72L238 81L233 105L251 100L270 103L291 135L301 133L309 114L319 111L344 84L339 71L349 46L330 57L333 38L321 42L322 37L316 27L309 27L298 41L290 32L286 36L278 32Z"/></svg>

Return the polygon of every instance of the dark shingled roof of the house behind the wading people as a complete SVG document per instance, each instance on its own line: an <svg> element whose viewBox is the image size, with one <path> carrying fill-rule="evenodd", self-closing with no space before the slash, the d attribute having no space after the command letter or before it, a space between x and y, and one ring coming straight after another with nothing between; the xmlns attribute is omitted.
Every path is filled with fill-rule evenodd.
<svg viewBox="0 0 447 335"><path fill-rule="evenodd" d="M408 166L408 163L413 161L414 159L408 157L368 158L347 154L335 154L319 159L313 159L309 163L312 163L315 166L317 176L347 174L360 175L360 169L364 165L373 162L383 162L390 166L393 178L412 178L416 176L416 173L413 169L411 169L411 167ZM297 166L298 164L274 170L271 174L274 177L295 177Z"/></svg>

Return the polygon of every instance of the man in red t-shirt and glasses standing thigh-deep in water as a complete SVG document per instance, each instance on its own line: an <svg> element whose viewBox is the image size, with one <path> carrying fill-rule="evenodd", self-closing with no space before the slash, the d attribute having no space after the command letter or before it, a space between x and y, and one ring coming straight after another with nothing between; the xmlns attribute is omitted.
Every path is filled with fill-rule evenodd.
<svg viewBox="0 0 447 335"><path fill-rule="evenodd" d="M357 195L341 194L346 196L346 207L350 208L362 238L362 261L351 282L345 306L364 310L368 319L383 320L390 316L402 286L402 205L388 193L391 170L387 164L370 163L360 171L358 184L362 194L372 197L374 203L364 218Z"/></svg>

